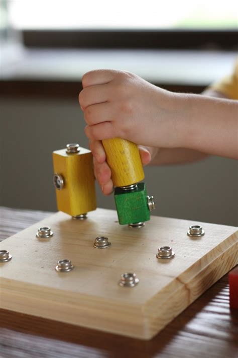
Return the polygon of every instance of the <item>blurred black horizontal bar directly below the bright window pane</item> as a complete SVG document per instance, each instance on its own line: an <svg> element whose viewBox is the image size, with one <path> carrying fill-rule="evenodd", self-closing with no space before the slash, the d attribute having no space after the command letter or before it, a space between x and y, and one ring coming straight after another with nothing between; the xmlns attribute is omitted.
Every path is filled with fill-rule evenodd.
<svg viewBox="0 0 238 358"><path fill-rule="evenodd" d="M237 30L24 30L27 47L45 48L224 48L237 47Z"/></svg>

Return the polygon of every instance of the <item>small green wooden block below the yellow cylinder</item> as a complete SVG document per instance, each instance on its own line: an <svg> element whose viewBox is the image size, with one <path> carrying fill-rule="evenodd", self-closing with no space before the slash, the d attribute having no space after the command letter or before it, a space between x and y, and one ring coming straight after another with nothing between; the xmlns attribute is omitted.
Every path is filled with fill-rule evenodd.
<svg viewBox="0 0 238 358"><path fill-rule="evenodd" d="M132 191L115 188L114 200L119 223L135 224L150 220L145 183L139 183Z"/></svg>

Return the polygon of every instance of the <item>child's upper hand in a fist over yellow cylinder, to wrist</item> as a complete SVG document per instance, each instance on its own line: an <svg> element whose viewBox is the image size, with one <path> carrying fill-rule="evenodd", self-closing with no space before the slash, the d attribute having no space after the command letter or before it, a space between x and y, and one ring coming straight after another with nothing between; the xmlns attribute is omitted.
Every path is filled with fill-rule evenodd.
<svg viewBox="0 0 238 358"><path fill-rule="evenodd" d="M89 139L121 137L143 146L180 147L177 94L162 90L137 75L94 70L82 78L79 103Z"/></svg>

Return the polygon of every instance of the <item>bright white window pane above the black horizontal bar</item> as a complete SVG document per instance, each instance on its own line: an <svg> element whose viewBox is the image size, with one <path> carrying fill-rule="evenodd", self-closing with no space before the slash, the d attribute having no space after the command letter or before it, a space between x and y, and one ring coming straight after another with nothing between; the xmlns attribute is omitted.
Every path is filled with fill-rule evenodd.
<svg viewBox="0 0 238 358"><path fill-rule="evenodd" d="M18 29L234 29L237 1L226 0L9 0Z"/></svg>

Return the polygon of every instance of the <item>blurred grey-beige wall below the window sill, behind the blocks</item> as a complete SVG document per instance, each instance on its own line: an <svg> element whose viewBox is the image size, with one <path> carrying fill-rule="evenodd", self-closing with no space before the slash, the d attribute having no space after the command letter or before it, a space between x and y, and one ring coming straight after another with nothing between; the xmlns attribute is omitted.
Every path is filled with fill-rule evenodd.
<svg viewBox="0 0 238 358"><path fill-rule="evenodd" d="M68 142L87 147L84 121L75 100L0 99L1 205L56 210L52 184L54 150ZM201 163L146 168L154 214L238 224L237 163L209 158ZM98 206L114 208L98 191Z"/></svg>

